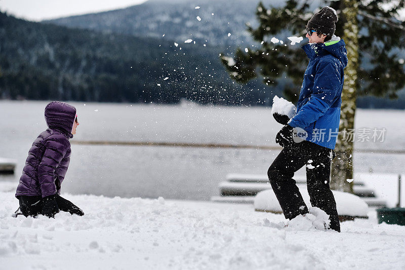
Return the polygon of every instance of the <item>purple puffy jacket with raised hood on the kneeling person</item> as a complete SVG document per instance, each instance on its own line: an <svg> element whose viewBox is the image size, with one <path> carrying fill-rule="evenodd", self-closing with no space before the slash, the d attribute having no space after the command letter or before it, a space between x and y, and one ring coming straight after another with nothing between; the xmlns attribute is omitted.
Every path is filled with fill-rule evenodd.
<svg viewBox="0 0 405 270"><path fill-rule="evenodd" d="M70 162L70 142L76 108L59 101L45 107L48 129L32 143L28 151L16 197L60 194L60 184Z"/></svg>

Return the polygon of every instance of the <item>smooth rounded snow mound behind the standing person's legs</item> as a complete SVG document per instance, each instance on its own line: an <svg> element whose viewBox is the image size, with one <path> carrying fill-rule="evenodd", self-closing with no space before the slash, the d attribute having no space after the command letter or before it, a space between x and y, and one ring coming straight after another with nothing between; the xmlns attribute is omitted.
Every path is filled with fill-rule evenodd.
<svg viewBox="0 0 405 270"><path fill-rule="evenodd" d="M299 189L305 204L307 206L311 206L306 187L299 186ZM369 207L359 197L342 191L332 190L332 192L335 196L336 209L338 210L339 215L359 217L367 216ZM267 189L259 192L255 197L255 202L253 205L258 211L282 213L281 207L272 189Z"/></svg>

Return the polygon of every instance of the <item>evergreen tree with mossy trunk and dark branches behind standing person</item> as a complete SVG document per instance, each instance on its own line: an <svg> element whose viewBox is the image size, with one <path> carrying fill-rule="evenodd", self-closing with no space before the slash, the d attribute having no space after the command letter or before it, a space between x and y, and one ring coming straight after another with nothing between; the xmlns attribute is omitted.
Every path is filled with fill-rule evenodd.
<svg viewBox="0 0 405 270"><path fill-rule="evenodd" d="M248 30L261 45L257 50L237 49L233 58L222 55L232 79L246 83L263 77L263 82L275 87L287 81L285 96L296 102L308 63L300 46L290 46L270 40L275 35L303 36L305 25L314 11L321 7L334 8L339 16L335 34L345 40L349 64L345 69L342 93L340 134L336 145L337 157L332 165L331 187L352 191L353 141L347 140L344 131L354 129L357 95L388 96L396 98L396 92L405 85L403 59L398 54L405 49L405 23L398 11L405 8L405 1L321 1L318 7L312 1L288 0L284 8L266 8L260 2L257 7L259 26Z"/></svg>

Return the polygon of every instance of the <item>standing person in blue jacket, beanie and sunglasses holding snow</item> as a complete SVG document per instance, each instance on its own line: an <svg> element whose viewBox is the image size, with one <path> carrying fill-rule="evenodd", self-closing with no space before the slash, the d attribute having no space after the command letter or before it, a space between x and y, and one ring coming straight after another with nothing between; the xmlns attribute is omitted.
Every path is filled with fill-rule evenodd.
<svg viewBox="0 0 405 270"><path fill-rule="evenodd" d="M322 8L308 21L302 47L309 58L297 103L296 115L276 135L284 147L267 174L287 219L308 213L293 179L304 165L310 202L329 215L328 228L340 232L336 202L329 186L333 149L339 130L343 69L347 65L345 43L334 35L336 11ZM294 136L297 132L300 137Z"/></svg>

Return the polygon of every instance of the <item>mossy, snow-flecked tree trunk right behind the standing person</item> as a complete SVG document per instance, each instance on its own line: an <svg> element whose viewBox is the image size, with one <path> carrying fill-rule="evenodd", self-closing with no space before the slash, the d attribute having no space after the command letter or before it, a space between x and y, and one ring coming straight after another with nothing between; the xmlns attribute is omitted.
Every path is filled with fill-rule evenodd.
<svg viewBox="0 0 405 270"><path fill-rule="evenodd" d="M356 111L357 69L358 69L358 24L357 1L344 0L342 15L345 19L344 36L348 65L345 68L345 81L342 92L339 137L336 143L336 158L332 162L331 188L353 192L353 141L348 133L354 131L354 114Z"/></svg>

